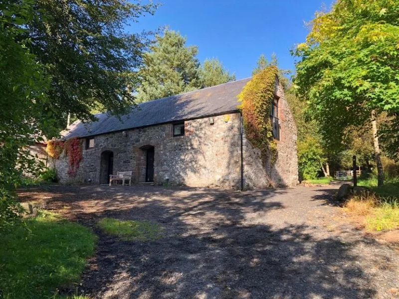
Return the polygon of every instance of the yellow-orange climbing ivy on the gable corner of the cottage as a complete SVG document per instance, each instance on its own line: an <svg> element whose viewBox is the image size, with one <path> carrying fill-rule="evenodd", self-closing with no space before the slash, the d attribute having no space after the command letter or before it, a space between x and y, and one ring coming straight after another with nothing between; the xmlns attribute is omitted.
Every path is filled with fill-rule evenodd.
<svg viewBox="0 0 399 299"><path fill-rule="evenodd" d="M246 138L260 149L263 161L269 156L272 163L277 158L277 145L272 136L270 106L277 74L276 66L266 67L254 75L238 95Z"/></svg>

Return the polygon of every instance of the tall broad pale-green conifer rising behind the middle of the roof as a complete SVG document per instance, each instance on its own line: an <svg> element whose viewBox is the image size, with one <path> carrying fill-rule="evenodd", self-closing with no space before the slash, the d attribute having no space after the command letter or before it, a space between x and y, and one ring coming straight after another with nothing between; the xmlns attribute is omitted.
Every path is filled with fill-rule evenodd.
<svg viewBox="0 0 399 299"><path fill-rule="evenodd" d="M137 101L147 102L201 88L197 46L186 46L186 37L168 29L155 38L139 71Z"/></svg>

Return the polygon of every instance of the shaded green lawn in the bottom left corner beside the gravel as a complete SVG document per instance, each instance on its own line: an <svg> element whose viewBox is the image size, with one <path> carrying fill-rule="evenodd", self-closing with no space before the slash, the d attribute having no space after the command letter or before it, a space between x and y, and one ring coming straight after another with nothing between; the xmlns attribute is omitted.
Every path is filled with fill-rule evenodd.
<svg viewBox="0 0 399 299"><path fill-rule="evenodd" d="M79 281L96 236L45 211L26 226L30 233L19 227L0 235L0 298L60 298L56 289Z"/></svg>

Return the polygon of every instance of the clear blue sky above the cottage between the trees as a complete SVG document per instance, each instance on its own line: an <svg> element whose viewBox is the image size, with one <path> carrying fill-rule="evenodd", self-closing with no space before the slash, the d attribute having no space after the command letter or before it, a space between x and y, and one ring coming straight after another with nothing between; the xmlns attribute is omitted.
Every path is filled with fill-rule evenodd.
<svg viewBox="0 0 399 299"><path fill-rule="evenodd" d="M275 52L280 68L293 69L289 50L303 42L304 21L332 0L161 0L154 15L140 17L128 30L169 25L199 47L199 59L217 57L237 79L249 77L260 54Z"/></svg>

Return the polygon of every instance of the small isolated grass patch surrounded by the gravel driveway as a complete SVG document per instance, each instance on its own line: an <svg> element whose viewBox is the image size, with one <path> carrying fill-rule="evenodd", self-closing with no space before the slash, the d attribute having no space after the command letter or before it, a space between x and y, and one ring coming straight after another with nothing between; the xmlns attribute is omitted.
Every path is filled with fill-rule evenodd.
<svg viewBox="0 0 399 299"><path fill-rule="evenodd" d="M141 220L119 220L103 218L98 226L107 234L119 236L122 240L150 241L161 237L161 227L158 223Z"/></svg>

